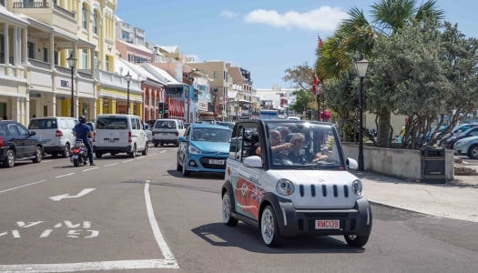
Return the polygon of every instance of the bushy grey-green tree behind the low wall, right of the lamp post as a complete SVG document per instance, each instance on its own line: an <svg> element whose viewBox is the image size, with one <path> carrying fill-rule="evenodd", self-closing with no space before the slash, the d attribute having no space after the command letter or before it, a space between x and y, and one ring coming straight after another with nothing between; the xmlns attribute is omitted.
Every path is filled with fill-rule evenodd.
<svg viewBox="0 0 478 273"><path fill-rule="evenodd" d="M444 116L451 117L451 129L478 107L470 99L478 95L476 39L466 39L449 23L424 20L377 41L367 88L369 106L378 108L384 90L394 86L391 108L408 116L402 146L415 149L436 142Z"/></svg>

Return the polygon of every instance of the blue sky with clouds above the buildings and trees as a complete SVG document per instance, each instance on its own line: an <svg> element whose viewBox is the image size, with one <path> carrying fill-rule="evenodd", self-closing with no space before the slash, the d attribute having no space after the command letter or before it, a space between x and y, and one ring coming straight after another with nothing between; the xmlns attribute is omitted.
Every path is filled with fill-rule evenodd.
<svg viewBox="0 0 478 273"><path fill-rule="evenodd" d="M158 45L178 45L198 62L223 60L249 69L254 88L282 81L287 68L315 63L318 35L333 35L352 7L366 15L366 0L118 0L117 15L146 31ZM417 0L417 3L422 3ZM478 1L437 0L445 20L478 37ZM474 19L473 19L474 18Z"/></svg>

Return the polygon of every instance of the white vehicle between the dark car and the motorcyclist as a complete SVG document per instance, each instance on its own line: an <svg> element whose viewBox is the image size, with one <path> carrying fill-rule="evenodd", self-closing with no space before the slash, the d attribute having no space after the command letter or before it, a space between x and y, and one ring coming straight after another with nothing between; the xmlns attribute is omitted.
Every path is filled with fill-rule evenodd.
<svg viewBox="0 0 478 273"><path fill-rule="evenodd" d="M44 153L57 157L70 156L70 148L75 144L73 128L79 123L70 116L33 117L28 123L28 129L43 140Z"/></svg>

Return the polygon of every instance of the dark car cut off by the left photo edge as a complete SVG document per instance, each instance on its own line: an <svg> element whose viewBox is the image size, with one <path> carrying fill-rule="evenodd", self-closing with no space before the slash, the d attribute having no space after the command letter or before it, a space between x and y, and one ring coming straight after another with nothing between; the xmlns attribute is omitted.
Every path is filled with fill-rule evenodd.
<svg viewBox="0 0 478 273"><path fill-rule="evenodd" d="M14 167L15 161L40 163L43 143L36 133L13 120L0 121L0 166Z"/></svg>

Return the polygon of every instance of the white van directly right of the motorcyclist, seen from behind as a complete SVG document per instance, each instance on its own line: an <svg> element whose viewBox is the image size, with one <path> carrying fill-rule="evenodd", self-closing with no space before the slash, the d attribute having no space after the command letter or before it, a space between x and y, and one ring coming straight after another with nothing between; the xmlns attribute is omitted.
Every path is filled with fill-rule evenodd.
<svg viewBox="0 0 478 273"><path fill-rule="evenodd" d="M136 157L137 152L147 155L147 134L139 116L103 114L97 116L97 131L93 150L97 158L110 153L115 156L127 153Z"/></svg>

